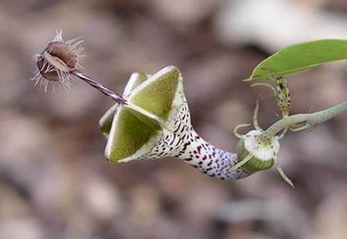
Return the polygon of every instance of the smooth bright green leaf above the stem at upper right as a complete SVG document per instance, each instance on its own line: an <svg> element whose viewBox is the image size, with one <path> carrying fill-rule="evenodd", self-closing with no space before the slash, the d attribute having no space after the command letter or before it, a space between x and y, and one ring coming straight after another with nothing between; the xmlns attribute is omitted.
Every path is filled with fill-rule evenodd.
<svg viewBox="0 0 347 239"><path fill-rule="evenodd" d="M347 40L321 39L289 46L266 58L255 67L249 80L268 78L272 73L289 75L347 59Z"/></svg>

